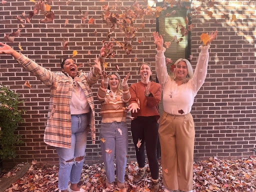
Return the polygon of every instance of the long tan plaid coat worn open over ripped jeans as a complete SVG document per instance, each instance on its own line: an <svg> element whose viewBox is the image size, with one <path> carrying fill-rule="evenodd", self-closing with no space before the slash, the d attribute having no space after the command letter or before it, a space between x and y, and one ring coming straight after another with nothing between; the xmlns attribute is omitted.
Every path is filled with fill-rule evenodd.
<svg viewBox="0 0 256 192"><path fill-rule="evenodd" d="M71 147L71 114L70 100L73 87L73 79L63 72L51 72L36 64L23 54L16 59L22 67L38 77L50 88L50 101L47 115L47 124L43 140L46 144L56 147ZM78 71L77 83L82 88L90 105L90 117L88 125L92 143L95 143L95 110L91 86L97 82L99 74L95 73L94 67L90 72Z"/></svg>

